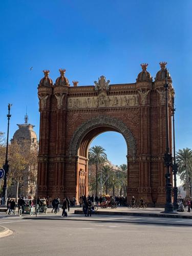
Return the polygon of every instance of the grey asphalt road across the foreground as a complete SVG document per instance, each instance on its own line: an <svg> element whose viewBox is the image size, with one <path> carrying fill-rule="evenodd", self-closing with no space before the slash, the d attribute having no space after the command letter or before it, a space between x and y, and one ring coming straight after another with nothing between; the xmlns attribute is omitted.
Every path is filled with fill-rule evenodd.
<svg viewBox="0 0 192 256"><path fill-rule="evenodd" d="M115 216L88 219L71 214L66 219L54 218L1 216L0 226L13 231L10 236L0 239L1 256L191 255L191 226L159 223L160 218L156 224L150 224L146 217L145 223L135 217L129 217L129 220L140 219L138 223L114 222Z"/></svg>

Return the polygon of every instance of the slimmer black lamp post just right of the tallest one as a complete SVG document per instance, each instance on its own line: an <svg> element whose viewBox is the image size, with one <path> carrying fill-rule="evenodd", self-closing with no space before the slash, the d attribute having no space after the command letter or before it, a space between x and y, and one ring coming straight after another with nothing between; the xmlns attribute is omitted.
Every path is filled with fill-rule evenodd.
<svg viewBox="0 0 192 256"><path fill-rule="evenodd" d="M172 112L173 112L173 141L174 141L174 164L173 164L173 174L174 174L174 210L179 209L179 203L178 203L178 187L177 187L177 163L176 163L176 157L175 157L175 97L172 97Z"/></svg>

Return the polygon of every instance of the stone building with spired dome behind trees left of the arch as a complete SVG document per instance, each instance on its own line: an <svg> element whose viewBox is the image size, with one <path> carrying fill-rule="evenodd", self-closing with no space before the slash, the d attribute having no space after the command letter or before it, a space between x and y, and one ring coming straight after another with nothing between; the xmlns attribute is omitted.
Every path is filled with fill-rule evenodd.
<svg viewBox="0 0 192 256"><path fill-rule="evenodd" d="M11 143L13 143L15 140L22 144L24 143L24 140L27 141L25 143L29 143L30 150L36 150L38 148L38 141L37 141L37 135L33 130L34 125L28 123L28 115L25 116L25 123L23 124L17 124L18 130L14 133L13 139L11 140ZM23 181L18 184L18 196L24 196L32 198L35 195L36 191L36 182L34 180L30 179L30 166L28 166L24 170L24 177ZM11 186L11 192L9 193L11 197L16 198L17 196L17 184L16 182L12 182Z"/></svg>

